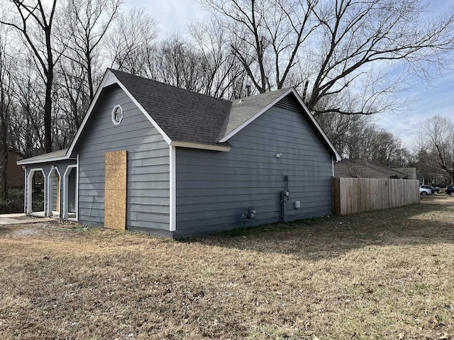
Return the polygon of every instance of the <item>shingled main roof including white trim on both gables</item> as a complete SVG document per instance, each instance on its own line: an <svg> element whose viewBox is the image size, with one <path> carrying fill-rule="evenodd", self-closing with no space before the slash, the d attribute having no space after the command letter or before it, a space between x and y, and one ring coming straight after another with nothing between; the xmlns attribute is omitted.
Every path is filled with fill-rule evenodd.
<svg viewBox="0 0 454 340"><path fill-rule="evenodd" d="M292 87L227 101L111 68L106 69L68 154L72 153L84 126L91 119L101 92L114 84L125 91L169 145L224 151L230 147L230 137L284 96L293 93L301 106L301 112L309 116L336 159L340 159L340 155Z"/></svg>

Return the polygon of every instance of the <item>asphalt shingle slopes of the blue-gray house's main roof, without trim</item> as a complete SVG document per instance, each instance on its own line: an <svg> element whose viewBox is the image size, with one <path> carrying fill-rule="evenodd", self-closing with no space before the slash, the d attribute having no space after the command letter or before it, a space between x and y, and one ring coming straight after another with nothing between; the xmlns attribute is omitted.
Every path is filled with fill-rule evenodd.
<svg viewBox="0 0 454 340"><path fill-rule="evenodd" d="M232 102L115 69L110 71L170 140L178 142L228 145L218 141L289 91L280 89Z"/></svg>

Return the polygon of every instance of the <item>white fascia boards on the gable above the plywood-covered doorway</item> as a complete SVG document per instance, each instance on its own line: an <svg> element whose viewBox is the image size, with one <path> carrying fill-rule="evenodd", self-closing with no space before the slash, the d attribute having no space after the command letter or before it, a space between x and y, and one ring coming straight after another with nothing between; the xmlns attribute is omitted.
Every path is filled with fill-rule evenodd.
<svg viewBox="0 0 454 340"><path fill-rule="evenodd" d="M115 75L110 72L110 70L108 69L106 71L106 73L104 74L104 77L103 79L101 80L101 84L99 85L99 88L98 88L98 91L96 91L96 95L94 96L93 98L93 101L92 103L90 104L90 107L87 111L87 114L85 115L84 117L84 120L82 120L82 124L80 125L79 127L79 130L77 130L77 133L76 133L76 136L74 137L74 140L72 140L72 143L71 143L71 146L69 147L68 149L68 152L67 154L72 154L72 151L77 143L77 140L79 140L79 137L80 135L82 134L82 131L84 130L85 128L85 125L87 124L87 121L89 120L89 117L90 115L92 115L92 112L93 112L93 109L94 109L94 106L96 106L96 102L98 101L99 99L99 96L101 95L101 91L107 87L107 86L110 86L112 84L118 84L118 86L120 86L120 88L125 91L125 93L128 95L128 97L131 99L131 101L133 101L133 103L135 104L135 106L138 107L138 109L140 111L142 111L142 113L145 115L145 117L150 120L150 122L153 124L153 126L160 132L160 134L162 135L162 137L164 137L164 140L167 142L167 144L170 145L170 138L165 134L165 132L160 128L159 125L157 125L157 123L155 122L155 120L153 120L153 118L150 117L150 115L148 115L147 111L145 111L145 109L143 108L143 106L140 105L140 103L138 103L138 101L135 100L135 98L131 95L131 93L126 89L126 87L121 84L121 82L117 79L117 77L115 77Z"/></svg>

